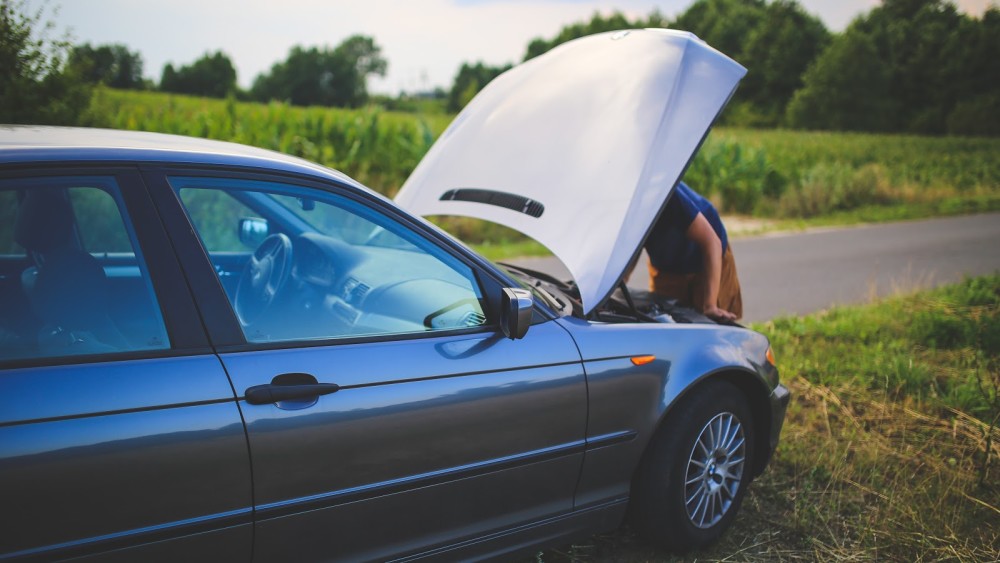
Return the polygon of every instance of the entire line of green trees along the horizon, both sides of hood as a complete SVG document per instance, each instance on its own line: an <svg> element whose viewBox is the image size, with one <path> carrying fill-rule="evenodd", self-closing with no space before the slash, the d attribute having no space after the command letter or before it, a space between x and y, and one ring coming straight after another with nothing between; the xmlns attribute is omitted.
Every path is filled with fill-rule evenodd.
<svg viewBox="0 0 1000 563"><path fill-rule="evenodd" d="M246 91L221 51L164 66L159 83L125 45L42 39L51 25L27 0L0 0L0 122L71 123L88 86L158 89L294 105L369 103L367 79L388 62L371 38L336 47L292 47ZM744 127L1000 135L1000 10L981 18L947 0L883 0L841 33L795 0L696 0L670 20L595 14L536 38L523 60L604 31L667 27L691 31L749 69L722 120ZM444 103L458 111L511 65L465 63ZM51 102L40 103L40 100Z"/></svg>

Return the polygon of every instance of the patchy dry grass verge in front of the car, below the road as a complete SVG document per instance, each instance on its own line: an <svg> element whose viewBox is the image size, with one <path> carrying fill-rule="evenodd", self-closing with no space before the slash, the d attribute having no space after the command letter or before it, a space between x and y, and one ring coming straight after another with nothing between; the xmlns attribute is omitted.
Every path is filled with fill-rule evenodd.
<svg viewBox="0 0 1000 563"><path fill-rule="evenodd" d="M675 557L626 527L537 560L1000 560L1000 275L754 328L792 403L722 541Z"/></svg>

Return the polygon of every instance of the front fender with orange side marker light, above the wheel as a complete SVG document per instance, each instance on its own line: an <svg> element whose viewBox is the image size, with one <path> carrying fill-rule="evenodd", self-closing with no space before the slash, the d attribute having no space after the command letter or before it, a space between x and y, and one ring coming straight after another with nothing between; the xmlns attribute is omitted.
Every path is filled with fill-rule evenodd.
<svg viewBox="0 0 1000 563"><path fill-rule="evenodd" d="M763 335L717 325L558 322L576 341L587 375L587 456L578 506L626 497L650 440L669 431L664 424L673 407L711 378L726 378L747 393L758 443L766 446L777 371L765 359Z"/></svg>

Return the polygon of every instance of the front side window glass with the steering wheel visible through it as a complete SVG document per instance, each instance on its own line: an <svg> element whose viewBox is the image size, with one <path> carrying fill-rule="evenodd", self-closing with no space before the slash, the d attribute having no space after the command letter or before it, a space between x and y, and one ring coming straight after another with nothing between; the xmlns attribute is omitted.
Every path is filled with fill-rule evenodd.
<svg viewBox="0 0 1000 563"><path fill-rule="evenodd" d="M469 266L366 205L255 180L173 177L170 183L250 342L487 323Z"/></svg>

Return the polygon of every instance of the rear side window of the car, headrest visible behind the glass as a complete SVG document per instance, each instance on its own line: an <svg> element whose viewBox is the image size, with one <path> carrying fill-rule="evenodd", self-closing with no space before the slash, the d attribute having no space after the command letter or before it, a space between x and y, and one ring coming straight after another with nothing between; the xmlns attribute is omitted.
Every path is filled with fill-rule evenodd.
<svg viewBox="0 0 1000 563"><path fill-rule="evenodd" d="M112 177L0 180L0 360L170 347Z"/></svg>

